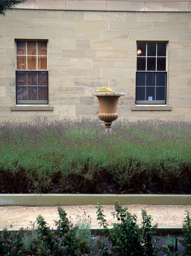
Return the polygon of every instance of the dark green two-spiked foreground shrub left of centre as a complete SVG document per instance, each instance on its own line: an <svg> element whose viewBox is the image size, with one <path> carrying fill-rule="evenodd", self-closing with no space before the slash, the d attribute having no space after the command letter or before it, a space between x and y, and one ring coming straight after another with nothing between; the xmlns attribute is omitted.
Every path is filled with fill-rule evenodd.
<svg viewBox="0 0 191 256"><path fill-rule="evenodd" d="M58 212L60 219L56 221L56 235L47 227L42 216L37 218L38 230L41 235L41 247L37 250L38 255L77 256L81 255L81 252L87 252L89 249L88 240L80 236L83 233L83 226L79 231L79 226L73 226L61 207L58 207Z"/></svg>

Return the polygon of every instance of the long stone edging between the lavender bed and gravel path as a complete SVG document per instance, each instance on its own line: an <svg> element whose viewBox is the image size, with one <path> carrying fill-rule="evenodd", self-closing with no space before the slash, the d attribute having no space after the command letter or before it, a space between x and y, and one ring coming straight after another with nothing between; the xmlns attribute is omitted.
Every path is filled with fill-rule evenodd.
<svg viewBox="0 0 191 256"><path fill-rule="evenodd" d="M0 194L0 206L191 205L191 195L163 194Z"/></svg>

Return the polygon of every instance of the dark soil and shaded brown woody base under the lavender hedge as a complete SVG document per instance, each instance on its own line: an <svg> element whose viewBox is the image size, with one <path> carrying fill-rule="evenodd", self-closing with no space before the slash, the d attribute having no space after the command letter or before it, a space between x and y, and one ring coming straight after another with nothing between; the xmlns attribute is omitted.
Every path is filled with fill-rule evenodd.
<svg viewBox="0 0 191 256"><path fill-rule="evenodd" d="M85 170L84 170L85 171ZM23 175L22 171L4 172L0 170L0 194L191 194L191 182L185 173L176 180L170 177L168 180L160 180L159 177L148 179L146 174L140 173L130 179L130 184L120 187L116 180L109 174L100 172L89 181L85 176L69 176L68 183L63 184L61 175L51 181L49 188L34 187L33 182Z"/></svg>

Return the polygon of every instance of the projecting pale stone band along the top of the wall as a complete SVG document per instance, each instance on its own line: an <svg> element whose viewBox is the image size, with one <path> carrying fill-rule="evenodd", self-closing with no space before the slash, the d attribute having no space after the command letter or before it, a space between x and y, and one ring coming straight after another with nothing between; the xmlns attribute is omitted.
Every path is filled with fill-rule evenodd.
<svg viewBox="0 0 191 256"><path fill-rule="evenodd" d="M19 9L130 12L191 12L190 0L28 0Z"/></svg>

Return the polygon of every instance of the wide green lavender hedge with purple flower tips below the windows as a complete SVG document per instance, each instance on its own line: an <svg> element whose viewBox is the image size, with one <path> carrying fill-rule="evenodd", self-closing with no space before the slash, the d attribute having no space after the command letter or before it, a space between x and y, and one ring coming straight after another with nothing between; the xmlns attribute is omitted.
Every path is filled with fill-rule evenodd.
<svg viewBox="0 0 191 256"><path fill-rule="evenodd" d="M190 152L189 122L117 120L111 134L96 119L0 124L0 177L8 185L17 174L41 192L55 178L66 188L82 182L97 192L108 177L124 189L145 188L153 180L181 189L191 182Z"/></svg>

